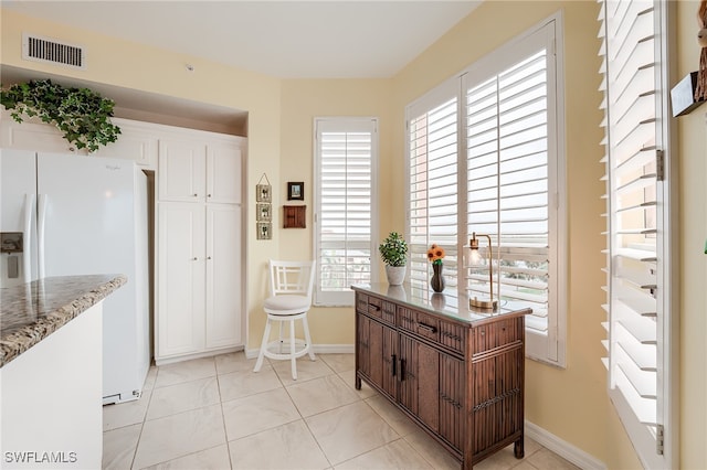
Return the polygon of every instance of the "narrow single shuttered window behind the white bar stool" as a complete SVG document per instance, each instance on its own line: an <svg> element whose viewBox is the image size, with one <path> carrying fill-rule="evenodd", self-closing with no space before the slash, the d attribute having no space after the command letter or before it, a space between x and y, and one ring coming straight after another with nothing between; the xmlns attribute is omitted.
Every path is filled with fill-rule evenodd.
<svg viewBox="0 0 707 470"><path fill-rule="evenodd" d="M374 281L378 120L315 119L315 303L352 306L354 284Z"/></svg>

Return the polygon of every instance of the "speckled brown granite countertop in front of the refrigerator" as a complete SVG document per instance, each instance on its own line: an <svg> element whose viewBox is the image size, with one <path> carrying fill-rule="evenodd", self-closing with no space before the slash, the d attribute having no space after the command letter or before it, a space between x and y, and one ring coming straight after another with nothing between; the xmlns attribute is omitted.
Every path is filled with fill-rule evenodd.
<svg viewBox="0 0 707 470"><path fill-rule="evenodd" d="M126 282L123 275L61 276L0 289L0 367Z"/></svg>

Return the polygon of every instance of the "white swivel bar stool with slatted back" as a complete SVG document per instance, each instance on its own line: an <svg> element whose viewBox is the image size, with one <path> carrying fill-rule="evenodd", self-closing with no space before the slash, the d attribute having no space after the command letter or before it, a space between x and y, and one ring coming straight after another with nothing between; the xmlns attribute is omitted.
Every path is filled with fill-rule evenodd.
<svg viewBox="0 0 707 470"><path fill-rule="evenodd" d="M312 351L312 338L307 312L312 308L312 291L314 289L315 261L276 261L270 260L270 293L265 299L263 310L267 313L267 323L261 343L261 351L253 372L258 372L263 365L263 357L274 360L289 360L292 363L292 378L297 380L297 357L309 354L316 361ZM302 320L305 339L295 338L295 321ZM279 338L270 341L272 322L279 322ZM283 339L283 323L289 322L289 338ZM283 348L284 346L284 348ZM275 349L277 352L275 352ZM283 349L287 352L283 352Z"/></svg>

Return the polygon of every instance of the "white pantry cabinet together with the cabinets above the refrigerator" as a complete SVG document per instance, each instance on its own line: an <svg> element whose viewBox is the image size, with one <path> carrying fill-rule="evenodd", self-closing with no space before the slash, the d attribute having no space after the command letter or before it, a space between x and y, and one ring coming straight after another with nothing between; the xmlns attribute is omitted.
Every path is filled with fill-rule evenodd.
<svg viewBox="0 0 707 470"><path fill-rule="evenodd" d="M135 160L154 172L155 361L157 364L244 345L242 285L243 151L246 139L113 118L118 141L96 158ZM76 151L36 119L0 118L0 148Z"/></svg>

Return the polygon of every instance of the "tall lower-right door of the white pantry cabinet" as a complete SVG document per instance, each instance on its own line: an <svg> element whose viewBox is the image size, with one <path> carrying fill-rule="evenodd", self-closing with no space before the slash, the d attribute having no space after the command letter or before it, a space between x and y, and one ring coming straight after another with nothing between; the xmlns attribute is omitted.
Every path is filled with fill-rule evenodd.
<svg viewBox="0 0 707 470"><path fill-rule="evenodd" d="M207 206L207 349L242 344L241 207Z"/></svg>

